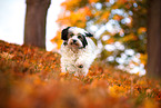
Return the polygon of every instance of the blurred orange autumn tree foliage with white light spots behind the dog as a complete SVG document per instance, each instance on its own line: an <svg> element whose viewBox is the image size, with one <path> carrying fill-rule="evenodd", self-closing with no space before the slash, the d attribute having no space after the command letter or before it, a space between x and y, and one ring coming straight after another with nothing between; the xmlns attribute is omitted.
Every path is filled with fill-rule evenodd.
<svg viewBox="0 0 161 108"><path fill-rule="evenodd" d="M129 65L129 58L135 56L145 63L147 0L66 0L61 6L60 29L76 26L92 32L102 48L101 60L118 65L124 59ZM60 33L52 41L58 42L58 37Z"/></svg>

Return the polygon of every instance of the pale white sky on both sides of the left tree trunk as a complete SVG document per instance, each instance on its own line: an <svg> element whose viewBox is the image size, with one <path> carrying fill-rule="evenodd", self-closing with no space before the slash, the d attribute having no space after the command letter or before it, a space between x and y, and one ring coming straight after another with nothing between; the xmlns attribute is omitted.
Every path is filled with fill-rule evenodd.
<svg viewBox="0 0 161 108"><path fill-rule="evenodd" d="M51 0L47 16L46 48L53 49L51 39L56 36L58 24L56 20L61 11L63 0ZM11 43L23 43L26 0L0 0L0 40ZM57 10L57 11L56 11Z"/></svg>

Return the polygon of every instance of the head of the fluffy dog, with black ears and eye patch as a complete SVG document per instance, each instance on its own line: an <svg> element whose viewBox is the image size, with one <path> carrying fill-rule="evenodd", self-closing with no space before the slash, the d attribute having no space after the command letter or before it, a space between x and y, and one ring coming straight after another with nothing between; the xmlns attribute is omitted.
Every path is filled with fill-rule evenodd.
<svg viewBox="0 0 161 108"><path fill-rule="evenodd" d="M84 29L77 27L68 27L61 32L61 39L63 40L63 45L71 48L85 48L85 46L88 46L87 37L93 36Z"/></svg>

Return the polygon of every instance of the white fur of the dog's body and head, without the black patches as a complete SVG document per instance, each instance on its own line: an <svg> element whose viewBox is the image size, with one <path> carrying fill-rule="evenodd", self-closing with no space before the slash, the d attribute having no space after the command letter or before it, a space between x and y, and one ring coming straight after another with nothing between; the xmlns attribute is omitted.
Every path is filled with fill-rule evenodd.
<svg viewBox="0 0 161 108"><path fill-rule="evenodd" d="M70 28L69 31L74 35L85 35L87 32L77 27ZM68 45L61 46L61 71L74 73L76 76L87 76L91 63L99 53L98 48L89 37L85 37L88 45L84 48L71 47L72 45L70 43L72 43L72 39L76 39L76 37L73 36L72 38L69 38ZM78 46L82 46L79 39L76 40L79 43Z"/></svg>

